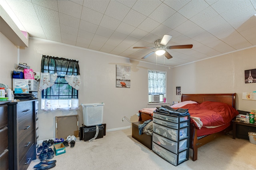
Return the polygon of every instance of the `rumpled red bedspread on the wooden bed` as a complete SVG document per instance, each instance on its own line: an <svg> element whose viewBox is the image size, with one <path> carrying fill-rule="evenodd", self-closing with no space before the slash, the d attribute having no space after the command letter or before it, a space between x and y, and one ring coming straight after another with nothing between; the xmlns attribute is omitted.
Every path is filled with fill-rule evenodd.
<svg viewBox="0 0 256 170"><path fill-rule="evenodd" d="M200 120L203 123L202 127L224 125L229 123L236 115L238 115L238 111L236 109L221 102L207 101L201 104L187 104L180 108L188 109L191 117L200 117ZM198 127L193 119L191 119L191 122Z"/></svg>

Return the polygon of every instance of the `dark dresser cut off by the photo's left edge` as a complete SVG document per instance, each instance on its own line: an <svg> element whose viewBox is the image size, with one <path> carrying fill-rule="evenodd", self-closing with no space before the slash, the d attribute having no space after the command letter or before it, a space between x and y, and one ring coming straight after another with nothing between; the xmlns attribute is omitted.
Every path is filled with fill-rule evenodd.
<svg viewBox="0 0 256 170"><path fill-rule="evenodd" d="M8 102L0 102L0 170L9 168Z"/></svg>

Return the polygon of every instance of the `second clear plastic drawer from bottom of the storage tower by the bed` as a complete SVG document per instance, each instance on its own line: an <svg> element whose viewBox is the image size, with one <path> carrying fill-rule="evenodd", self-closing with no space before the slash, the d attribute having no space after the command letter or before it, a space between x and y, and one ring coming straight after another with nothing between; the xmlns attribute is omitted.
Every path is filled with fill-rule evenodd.
<svg viewBox="0 0 256 170"><path fill-rule="evenodd" d="M188 138L179 142L174 142L153 133L152 141L176 154L182 150L188 149Z"/></svg>

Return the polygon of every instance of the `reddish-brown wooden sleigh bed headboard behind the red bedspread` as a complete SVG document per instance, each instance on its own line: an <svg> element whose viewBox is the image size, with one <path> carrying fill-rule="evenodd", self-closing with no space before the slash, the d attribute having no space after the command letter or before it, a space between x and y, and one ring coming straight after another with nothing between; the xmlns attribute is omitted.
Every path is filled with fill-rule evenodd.
<svg viewBox="0 0 256 170"><path fill-rule="evenodd" d="M182 94L181 102L192 100L198 103L211 101L222 102L236 109L236 93L230 94Z"/></svg>

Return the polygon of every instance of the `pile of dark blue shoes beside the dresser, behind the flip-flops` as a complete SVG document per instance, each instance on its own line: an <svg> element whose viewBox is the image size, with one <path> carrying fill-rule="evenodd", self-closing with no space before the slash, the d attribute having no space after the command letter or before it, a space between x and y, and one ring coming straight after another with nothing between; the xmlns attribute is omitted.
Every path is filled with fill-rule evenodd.
<svg viewBox="0 0 256 170"><path fill-rule="evenodd" d="M54 141L52 139L49 139L48 141L43 141L42 146L37 148L37 155L38 158L43 161L46 159L52 159L54 157L54 151L51 147L54 144Z"/></svg>

